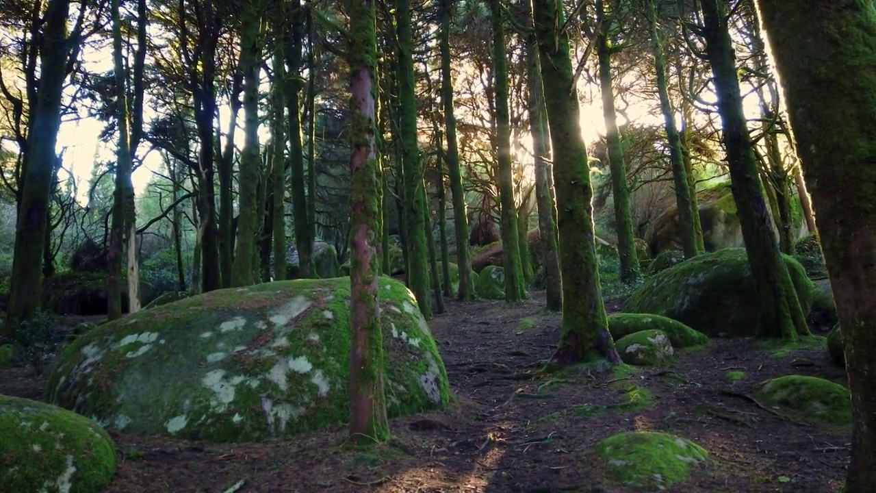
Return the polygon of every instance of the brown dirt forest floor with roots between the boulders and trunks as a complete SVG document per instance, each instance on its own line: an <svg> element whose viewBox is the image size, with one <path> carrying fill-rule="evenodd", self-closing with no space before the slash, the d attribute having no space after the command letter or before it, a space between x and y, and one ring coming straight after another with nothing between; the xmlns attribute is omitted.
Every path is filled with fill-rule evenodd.
<svg viewBox="0 0 876 493"><path fill-rule="evenodd" d="M119 467L109 491L643 491L605 479L592 455L599 440L632 430L673 433L710 452L689 482L668 491L841 489L847 432L797 424L747 397L757 383L781 375L844 383L826 349L777 351L749 339L715 339L670 368L538 375L559 339L561 317L544 311L543 292L532 294L515 305L448 302L429 325L454 403L392 419L385 445L348 447L343 426L240 445L113 433ZM618 311L618 303L608 309ZM728 372L745 377L731 382ZM44 384L26 368L0 370L0 394L41 400Z"/></svg>

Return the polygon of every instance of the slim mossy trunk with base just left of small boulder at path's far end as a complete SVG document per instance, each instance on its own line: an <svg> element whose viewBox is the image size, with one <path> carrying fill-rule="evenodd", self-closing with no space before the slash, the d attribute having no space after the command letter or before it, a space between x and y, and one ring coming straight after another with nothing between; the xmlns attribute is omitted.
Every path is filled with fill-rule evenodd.
<svg viewBox="0 0 876 493"><path fill-rule="evenodd" d="M444 131L447 134L447 174L450 180L450 194L453 200L453 226L456 235L456 266L459 268L460 301L471 301L475 297L475 286L471 275L471 253L469 251L469 218L465 204L463 177L459 169L459 148L456 142L456 116L453 112L453 79L450 72L450 26L453 22L453 0L441 0L441 80L442 104L444 106Z"/></svg>

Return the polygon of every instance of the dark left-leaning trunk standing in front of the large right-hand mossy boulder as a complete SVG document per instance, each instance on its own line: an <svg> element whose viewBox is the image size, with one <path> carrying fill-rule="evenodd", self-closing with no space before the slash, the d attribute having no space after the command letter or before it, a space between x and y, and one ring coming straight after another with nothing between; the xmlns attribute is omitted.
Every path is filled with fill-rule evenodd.
<svg viewBox="0 0 876 493"><path fill-rule="evenodd" d="M809 334L806 314L781 259L748 133L724 0L703 0L703 38L717 93L722 140L730 168L745 251L758 292L765 337L796 339Z"/></svg>

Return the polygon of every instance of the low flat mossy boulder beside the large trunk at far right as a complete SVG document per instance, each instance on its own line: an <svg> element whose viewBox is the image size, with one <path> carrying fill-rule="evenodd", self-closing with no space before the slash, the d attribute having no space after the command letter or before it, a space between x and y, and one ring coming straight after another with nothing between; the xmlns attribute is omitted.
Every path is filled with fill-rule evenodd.
<svg viewBox="0 0 876 493"><path fill-rule="evenodd" d="M815 376L786 375L761 382L754 397L808 423L851 425L851 394L842 385Z"/></svg>

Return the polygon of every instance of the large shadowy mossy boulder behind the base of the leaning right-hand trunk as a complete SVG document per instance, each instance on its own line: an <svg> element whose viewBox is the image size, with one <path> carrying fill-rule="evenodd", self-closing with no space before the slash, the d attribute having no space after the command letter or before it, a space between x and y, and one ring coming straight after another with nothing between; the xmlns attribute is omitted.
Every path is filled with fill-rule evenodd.
<svg viewBox="0 0 876 493"><path fill-rule="evenodd" d="M797 261L783 258L808 312L815 285ZM758 306L745 249L727 248L654 275L627 298L624 311L674 318L709 337L749 337L769 332Z"/></svg>

